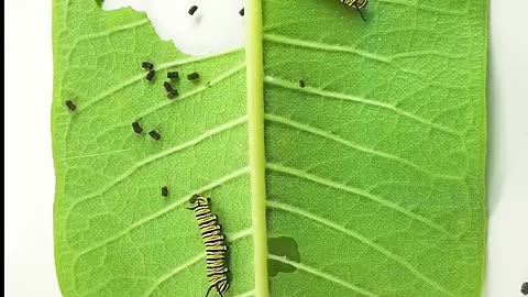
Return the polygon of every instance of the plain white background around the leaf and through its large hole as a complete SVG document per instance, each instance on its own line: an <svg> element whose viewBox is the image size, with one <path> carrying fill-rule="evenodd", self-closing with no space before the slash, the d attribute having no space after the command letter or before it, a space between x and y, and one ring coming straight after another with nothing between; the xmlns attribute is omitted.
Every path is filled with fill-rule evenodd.
<svg viewBox="0 0 528 297"><path fill-rule="evenodd" d="M123 0L108 1L111 4ZM182 15L194 2L199 2L148 1L172 2L175 7L172 11ZM212 8L217 13L207 15L213 19L204 19L200 28L189 23L196 20L177 18L184 20L184 24L178 23L180 26L195 30L196 34L172 32L175 26L170 23L158 29L158 33L174 38L187 53L232 47L242 43L243 19L222 19L224 14L218 10L229 8L238 12L242 1L229 0L229 6L226 6L228 0L208 1L224 4ZM491 1L485 297L516 297L521 296L520 284L528 280L528 1ZM139 9L144 9L151 18L160 13L161 19L154 22L163 26L163 14L152 6ZM4 0L4 8L6 296L58 297L52 220L55 180L50 123L51 0ZM222 25L215 25L218 23ZM216 37L208 32L215 32ZM207 46L208 42L213 45Z"/></svg>

